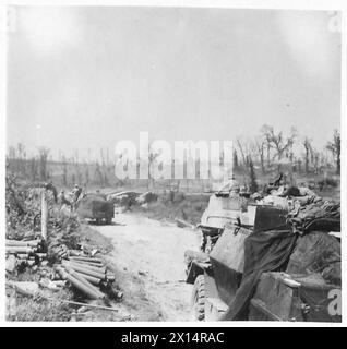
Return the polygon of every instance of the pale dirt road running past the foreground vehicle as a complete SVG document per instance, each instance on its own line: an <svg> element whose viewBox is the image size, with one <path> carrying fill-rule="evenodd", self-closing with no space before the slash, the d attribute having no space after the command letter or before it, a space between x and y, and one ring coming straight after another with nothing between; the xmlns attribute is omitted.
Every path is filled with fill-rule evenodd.
<svg viewBox="0 0 347 349"><path fill-rule="evenodd" d="M184 251L198 233L134 214L118 214L111 226L95 227L111 239L108 261L124 292L120 306L135 321L191 321L192 286L184 282Z"/></svg>

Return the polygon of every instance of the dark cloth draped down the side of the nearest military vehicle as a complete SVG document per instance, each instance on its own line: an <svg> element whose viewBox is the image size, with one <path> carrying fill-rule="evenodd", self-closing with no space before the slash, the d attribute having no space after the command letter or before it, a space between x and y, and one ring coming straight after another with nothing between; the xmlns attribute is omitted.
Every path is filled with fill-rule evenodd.
<svg viewBox="0 0 347 349"><path fill-rule="evenodd" d="M297 241L288 225L258 231L244 240L243 277L223 320L247 320L248 304L260 276L286 265Z"/></svg>

